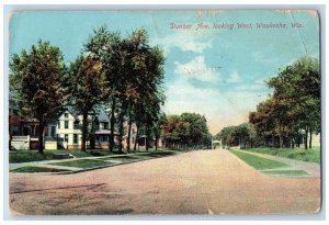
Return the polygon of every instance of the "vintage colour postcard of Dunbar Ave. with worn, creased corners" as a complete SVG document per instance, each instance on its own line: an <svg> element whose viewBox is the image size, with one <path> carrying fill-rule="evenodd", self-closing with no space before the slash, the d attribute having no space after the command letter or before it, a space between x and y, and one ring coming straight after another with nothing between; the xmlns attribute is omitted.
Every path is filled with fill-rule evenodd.
<svg viewBox="0 0 329 225"><path fill-rule="evenodd" d="M21 11L12 215L321 210L316 10Z"/></svg>

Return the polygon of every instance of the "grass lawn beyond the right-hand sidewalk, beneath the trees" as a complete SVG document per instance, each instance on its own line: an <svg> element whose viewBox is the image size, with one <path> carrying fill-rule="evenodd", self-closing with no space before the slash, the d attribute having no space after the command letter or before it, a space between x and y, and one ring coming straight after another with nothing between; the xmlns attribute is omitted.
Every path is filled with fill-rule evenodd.
<svg viewBox="0 0 329 225"><path fill-rule="evenodd" d="M313 161L318 164L320 164L321 158L320 147L313 147L311 149L307 150L305 150L304 148L250 148L243 150L280 156L300 161Z"/></svg>

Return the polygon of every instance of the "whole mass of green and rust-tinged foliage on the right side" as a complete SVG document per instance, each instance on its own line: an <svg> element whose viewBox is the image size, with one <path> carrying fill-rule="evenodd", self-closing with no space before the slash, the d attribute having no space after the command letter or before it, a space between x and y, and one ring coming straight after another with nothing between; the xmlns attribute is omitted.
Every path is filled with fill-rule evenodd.
<svg viewBox="0 0 329 225"><path fill-rule="evenodd" d="M269 138L281 148L299 145L303 135L307 148L308 135L320 132L320 77L319 61L303 57L268 81L273 94L249 115L259 145L266 146Z"/></svg>

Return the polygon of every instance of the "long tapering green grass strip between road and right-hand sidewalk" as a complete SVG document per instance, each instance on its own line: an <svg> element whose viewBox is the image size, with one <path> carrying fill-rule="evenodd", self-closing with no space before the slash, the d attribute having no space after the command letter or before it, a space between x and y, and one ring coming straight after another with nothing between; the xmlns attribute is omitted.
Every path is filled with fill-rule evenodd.
<svg viewBox="0 0 329 225"><path fill-rule="evenodd" d="M280 167L287 167L288 165L283 164L281 161L274 161L271 159L253 156L251 154L241 153L238 150L231 150L232 154L235 154L237 157L242 159L246 164L249 166L263 170L263 169L275 169Z"/></svg>

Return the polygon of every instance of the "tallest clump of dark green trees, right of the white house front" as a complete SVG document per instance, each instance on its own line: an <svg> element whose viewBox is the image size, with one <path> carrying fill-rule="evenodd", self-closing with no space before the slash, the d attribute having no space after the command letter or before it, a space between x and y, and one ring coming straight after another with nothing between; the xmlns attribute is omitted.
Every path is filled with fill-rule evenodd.
<svg viewBox="0 0 329 225"><path fill-rule="evenodd" d="M159 136L159 128L155 126L160 126L160 106L166 99L161 87L164 57L160 48L149 46L148 42L148 33L143 29L123 37L102 26L94 30L84 45L86 52L97 56L103 65L106 81L103 100L111 119L111 149L114 126L122 139L125 121L129 128L136 123L149 138L151 132Z"/></svg>

